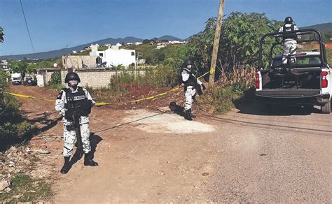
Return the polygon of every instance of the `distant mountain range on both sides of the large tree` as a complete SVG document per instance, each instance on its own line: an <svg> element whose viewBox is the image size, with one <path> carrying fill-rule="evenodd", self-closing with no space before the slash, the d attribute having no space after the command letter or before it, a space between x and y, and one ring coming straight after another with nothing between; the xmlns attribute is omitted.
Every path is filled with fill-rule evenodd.
<svg viewBox="0 0 332 204"><path fill-rule="evenodd" d="M332 36L332 22L324 23L324 24L315 24L309 27L300 27L299 29L318 29L321 31L321 34L326 35L326 36ZM190 37L189 37L190 38ZM161 36L158 38L158 40L168 40L168 41L174 41L174 40L179 40L179 41L187 41L189 38L186 39L180 39L174 36ZM15 55L4 55L0 56L1 59L11 59L11 60L20 60L23 59L24 57L27 59L51 59L51 58L56 58L56 57L61 57L64 54L69 54L72 51L76 50L83 50L83 48L90 46L91 44L96 44L98 43L99 45L104 45L104 44L111 44L111 45L116 45L116 43L136 43L136 42L143 42L144 39L142 38L135 38L135 37L125 37L125 38L106 38L102 39L99 41L93 41L91 43L86 43L83 45L77 45L72 48L63 48L60 50L53 50L53 51L48 51L48 52L37 52L33 54L15 54ZM331 41L328 39L328 41Z"/></svg>

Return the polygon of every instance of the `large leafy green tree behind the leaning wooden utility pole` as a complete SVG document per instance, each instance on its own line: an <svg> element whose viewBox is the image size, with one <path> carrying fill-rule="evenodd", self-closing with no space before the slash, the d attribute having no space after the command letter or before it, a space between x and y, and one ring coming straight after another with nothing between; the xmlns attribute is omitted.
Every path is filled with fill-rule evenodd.
<svg viewBox="0 0 332 204"><path fill-rule="evenodd" d="M265 13L230 13L223 20L217 65L226 70L232 69L235 64L255 66L258 62L261 37L277 31L278 27L279 23L269 20ZM209 66L215 28L216 17L209 18L205 29L193 36L189 42L191 56L200 66Z"/></svg>

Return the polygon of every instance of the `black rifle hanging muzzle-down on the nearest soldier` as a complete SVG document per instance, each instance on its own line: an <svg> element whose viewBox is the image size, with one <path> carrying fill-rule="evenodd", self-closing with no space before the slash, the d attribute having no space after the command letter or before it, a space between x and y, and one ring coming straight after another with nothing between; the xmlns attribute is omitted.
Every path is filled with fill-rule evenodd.
<svg viewBox="0 0 332 204"><path fill-rule="evenodd" d="M83 152L82 136L81 136L81 126L80 126L80 117L81 117L81 107L76 105L73 96L69 96L69 108L71 109L71 118L74 121L74 129L76 133L76 144L78 152Z"/></svg>

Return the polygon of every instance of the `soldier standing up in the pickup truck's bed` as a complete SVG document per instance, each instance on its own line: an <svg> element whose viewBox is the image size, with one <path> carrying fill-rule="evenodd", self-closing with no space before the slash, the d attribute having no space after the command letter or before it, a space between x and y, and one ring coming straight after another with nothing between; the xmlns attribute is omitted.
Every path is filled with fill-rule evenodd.
<svg viewBox="0 0 332 204"><path fill-rule="evenodd" d="M284 20L284 25L280 27L279 32L287 32L287 31L297 31L298 27L293 22L293 19L289 16ZM300 39L300 36L296 34L284 34L284 49L282 50L282 65L286 67L287 58L290 56L291 63L295 63L295 54L296 54L296 38Z"/></svg>

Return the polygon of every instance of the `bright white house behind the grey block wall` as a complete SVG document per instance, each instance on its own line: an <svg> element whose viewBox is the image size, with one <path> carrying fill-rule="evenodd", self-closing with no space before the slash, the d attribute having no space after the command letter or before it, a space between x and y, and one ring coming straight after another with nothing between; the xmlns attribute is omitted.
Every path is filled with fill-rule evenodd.
<svg viewBox="0 0 332 204"><path fill-rule="evenodd" d="M136 62L136 52L135 50L125 50L120 49L120 43L112 45L104 51L98 51L97 45L91 46L90 56L100 57L101 61L98 64L102 64L106 61L106 66L118 66L122 64L123 66L130 66L130 64L135 64Z"/></svg>

